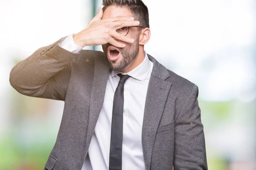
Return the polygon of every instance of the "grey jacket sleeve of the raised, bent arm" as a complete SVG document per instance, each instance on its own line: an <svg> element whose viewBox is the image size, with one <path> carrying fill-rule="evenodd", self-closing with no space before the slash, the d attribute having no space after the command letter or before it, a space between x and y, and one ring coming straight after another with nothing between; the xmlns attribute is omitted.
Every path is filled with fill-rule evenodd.
<svg viewBox="0 0 256 170"><path fill-rule="evenodd" d="M71 68L79 56L59 46L65 38L39 48L17 63L10 72L12 87L26 96L64 101Z"/></svg>

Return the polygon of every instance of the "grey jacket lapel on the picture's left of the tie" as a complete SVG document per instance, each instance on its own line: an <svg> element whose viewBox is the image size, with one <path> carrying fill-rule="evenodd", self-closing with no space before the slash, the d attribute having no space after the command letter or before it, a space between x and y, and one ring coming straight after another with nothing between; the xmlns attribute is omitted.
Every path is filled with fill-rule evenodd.
<svg viewBox="0 0 256 170"><path fill-rule="evenodd" d="M90 141L92 139L93 132L99 118L99 113L104 102L108 75L110 71L109 69L109 64L104 60L103 57L95 57L93 86L90 99L90 115L86 140L87 149L89 148Z"/></svg>

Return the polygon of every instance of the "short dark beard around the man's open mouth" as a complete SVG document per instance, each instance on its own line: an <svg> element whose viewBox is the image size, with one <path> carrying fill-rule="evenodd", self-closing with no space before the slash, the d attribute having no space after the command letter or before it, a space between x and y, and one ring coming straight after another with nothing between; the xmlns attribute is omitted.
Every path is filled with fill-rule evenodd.
<svg viewBox="0 0 256 170"><path fill-rule="evenodd" d="M134 40L133 43L131 43L131 45L126 45L124 48L118 48L120 53L122 54L122 59L116 60L116 61L108 60L108 46L110 46L111 44L108 43L108 44L102 45L105 57L108 63L110 64L111 70L114 70L114 71L124 70L131 64L131 62L134 61L134 59L137 57L139 53L139 38L140 37L138 36L137 39ZM121 56L119 56L119 58L120 57Z"/></svg>

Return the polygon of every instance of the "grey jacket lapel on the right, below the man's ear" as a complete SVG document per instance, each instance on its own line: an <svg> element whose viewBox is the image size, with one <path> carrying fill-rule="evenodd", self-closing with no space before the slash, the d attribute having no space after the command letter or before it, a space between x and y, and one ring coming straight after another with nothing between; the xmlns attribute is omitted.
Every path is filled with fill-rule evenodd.
<svg viewBox="0 0 256 170"><path fill-rule="evenodd" d="M148 84L142 127L142 147L146 170L150 169L157 127L171 88L171 83L165 81L169 77L167 69L149 54L148 58L154 66Z"/></svg>

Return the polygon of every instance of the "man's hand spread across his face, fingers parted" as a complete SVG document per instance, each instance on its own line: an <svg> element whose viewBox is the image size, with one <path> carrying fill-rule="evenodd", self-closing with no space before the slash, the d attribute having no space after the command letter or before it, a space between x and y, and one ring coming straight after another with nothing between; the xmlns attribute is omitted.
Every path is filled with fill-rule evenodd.
<svg viewBox="0 0 256 170"><path fill-rule="evenodd" d="M110 43L116 47L123 48L125 44L117 42L121 40L132 43L133 39L123 36L116 32L116 29L126 26L138 26L140 22L134 21L132 17L117 16L113 18L101 19L103 16L102 8L99 8L98 14L90 20L87 28L76 34L73 39L80 47L95 46ZM116 40L114 40L114 38Z"/></svg>

